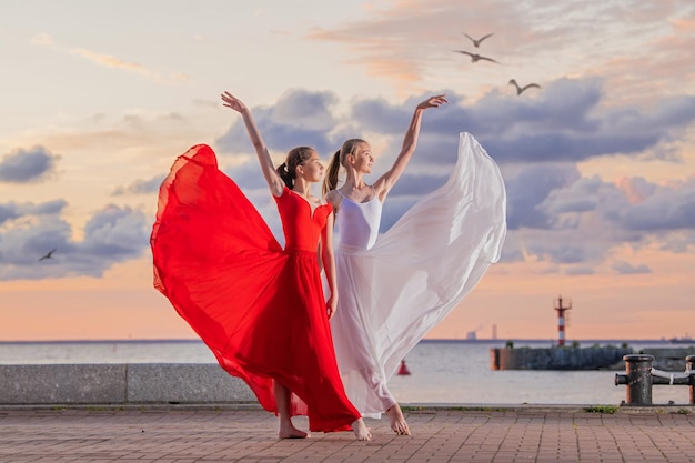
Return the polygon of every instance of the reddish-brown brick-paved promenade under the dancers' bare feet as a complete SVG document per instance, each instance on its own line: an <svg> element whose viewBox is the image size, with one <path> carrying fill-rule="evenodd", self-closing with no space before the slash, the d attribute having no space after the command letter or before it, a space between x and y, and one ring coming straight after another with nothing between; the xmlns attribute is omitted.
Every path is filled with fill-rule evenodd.
<svg viewBox="0 0 695 463"><path fill-rule="evenodd" d="M278 440L258 406L2 407L0 462L695 462L695 410L415 406L412 436L366 420L350 432ZM306 421L295 417L298 427Z"/></svg>

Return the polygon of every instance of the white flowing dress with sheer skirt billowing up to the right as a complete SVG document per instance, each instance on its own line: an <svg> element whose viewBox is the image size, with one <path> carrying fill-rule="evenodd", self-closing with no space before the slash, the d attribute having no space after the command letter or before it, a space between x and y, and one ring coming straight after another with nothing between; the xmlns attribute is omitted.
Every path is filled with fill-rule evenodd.
<svg viewBox="0 0 695 463"><path fill-rule="evenodd" d="M386 384L401 360L500 259L506 234L504 181L470 133L446 183L379 235L381 205L343 198L331 320L345 392L372 417L396 403Z"/></svg>

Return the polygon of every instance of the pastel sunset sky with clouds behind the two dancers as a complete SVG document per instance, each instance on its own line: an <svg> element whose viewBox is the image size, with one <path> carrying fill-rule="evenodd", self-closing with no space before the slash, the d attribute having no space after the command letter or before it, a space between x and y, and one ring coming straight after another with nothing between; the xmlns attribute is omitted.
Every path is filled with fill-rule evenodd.
<svg viewBox="0 0 695 463"><path fill-rule="evenodd" d="M152 288L175 157L212 145L281 240L224 90L279 162L360 137L375 173L415 105L446 93L383 229L443 182L467 131L501 168L508 233L429 338L556 339L558 295L570 340L695 336L693 50L691 0L3 0L0 341L195 338Z"/></svg>

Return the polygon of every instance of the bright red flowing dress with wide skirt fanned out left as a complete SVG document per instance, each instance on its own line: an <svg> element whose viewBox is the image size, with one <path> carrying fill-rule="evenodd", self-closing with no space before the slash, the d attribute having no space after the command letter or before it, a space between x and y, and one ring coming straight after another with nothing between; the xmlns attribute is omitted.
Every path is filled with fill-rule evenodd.
<svg viewBox="0 0 695 463"><path fill-rule="evenodd" d="M273 198L284 250L210 147L180 155L160 187L154 288L265 410L278 412L279 381L311 431L348 431L361 415L338 371L316 254L332 208L312 212L286 187Z"/></svg>

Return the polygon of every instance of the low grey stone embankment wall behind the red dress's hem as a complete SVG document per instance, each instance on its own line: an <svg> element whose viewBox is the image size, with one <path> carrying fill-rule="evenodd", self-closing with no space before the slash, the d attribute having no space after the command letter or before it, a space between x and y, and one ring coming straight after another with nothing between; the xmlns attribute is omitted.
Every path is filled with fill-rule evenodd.
<svg viewBox="0 0 695 463"><path fill-rule="evenodd" d="M216 363L0 365L0 404L258 403Z"/></svg>

